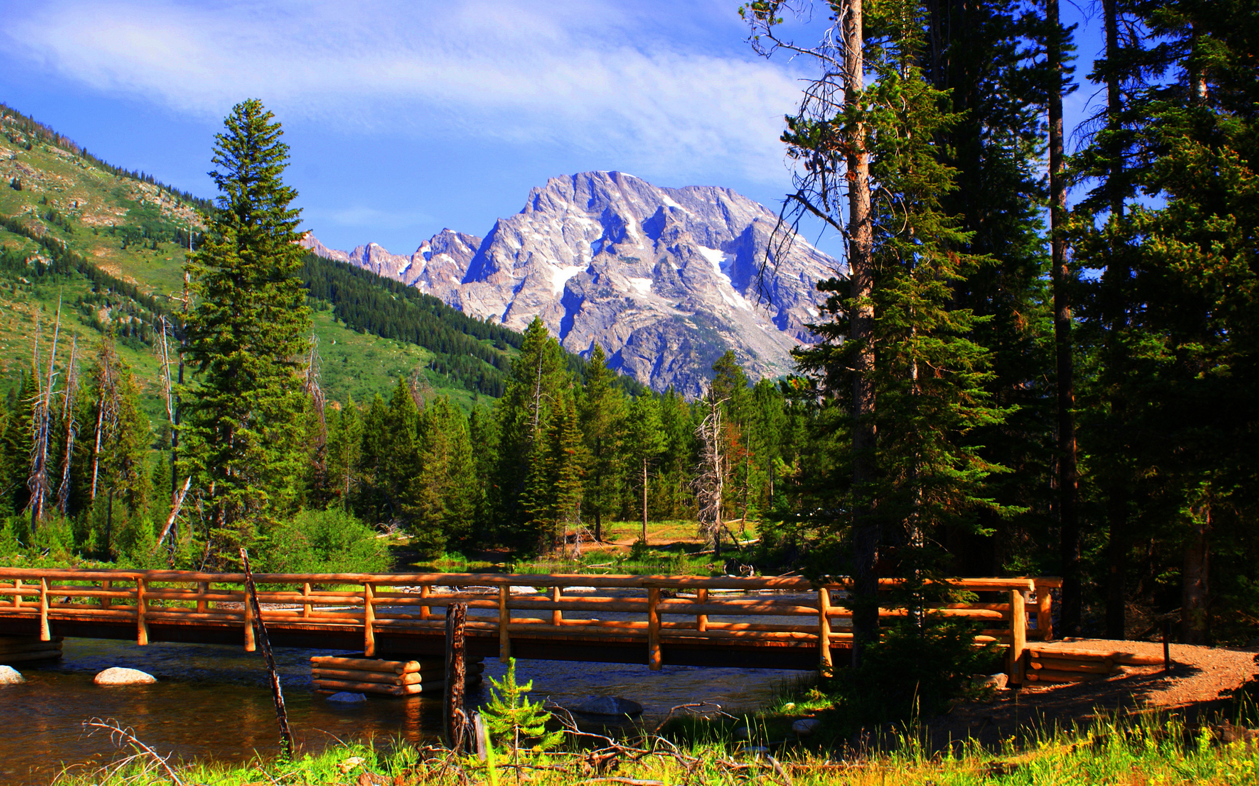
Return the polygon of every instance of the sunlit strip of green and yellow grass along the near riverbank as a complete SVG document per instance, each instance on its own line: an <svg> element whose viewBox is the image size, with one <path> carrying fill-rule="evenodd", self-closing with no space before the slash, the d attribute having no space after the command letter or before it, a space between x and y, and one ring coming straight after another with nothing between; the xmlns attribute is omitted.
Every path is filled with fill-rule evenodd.
<svg viewBox="0 0 1259 786"><path fill-rule="evenodd" d="M1251 736L1254 733L1251 732ZM141 756L112 768L71 767L59 786L201 783L205 786L468 786L528 782L530 786L626 783L665 786L765 782L779 786L978 786L1064 783L1196 783L1243 786L1259 780L1259 739L1228 722L1187 724L1177 716L1099 722L1078 733L1046 734L1015 750L977 743L928 755L912 736L885 753L845 758L784 746L773 755L745 751L730 739L677 744L661 737L630 738L593 748L525 755L520 767L500 753L496 772L475 756L437 747L337 746L293 762L256 760L246 766L166 766ZM505 761L506 760L506 761ZM517 780L519 778L519 780Z"/></svg>

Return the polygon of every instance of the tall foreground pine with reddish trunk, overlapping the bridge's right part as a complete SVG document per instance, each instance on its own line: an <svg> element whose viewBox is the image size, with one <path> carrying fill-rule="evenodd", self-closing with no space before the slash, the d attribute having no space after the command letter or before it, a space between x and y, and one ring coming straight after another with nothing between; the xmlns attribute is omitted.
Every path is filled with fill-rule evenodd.
<svg viewBox="0 0 1259 786"><path fill-rule="evenodd" d="M826 519L818 522L823 529L846 533L855 664L878 636L880 547L900 547L898 567L912 580L910 594L920 594L924 580L943 568L933 536L949 524L974 527L978 509L1001 511L983 495L985 480L1001 468L958 441L1005 415L983 390L991 377L987 353L969 338L974 316L953 301L953 285L990 260L957 250L968 235L940 208L954 172L942 162L937 135L957 118L922 72L923 10L914 3L879 4L865 9L865 20L861 11L851 4L838 20L840 38L831 39L842 40L842 69L828 44L811 50L831 69L784 133L813 179L806 184L813 190L796 199L816 196L815 214L837 226L838 186L826 185L826 177L846 171L849 179L850 280L820 284L832 293L830 321L815 326L825 341L798 357L827 406L842 406L851 418L836 445L840 455L821 467L847 468L847 480L810 514ZM777 24L760 19L769 31ZM835 70L841 84L832 79ZM876 77L869 87L862 86L865 70ZM844 104L827 103L841 87ZM866 152L866 162L854 160ZM857 192L867 176L889 199L871 205L869 191ZM912 606L913 599L901 602Z"/></svg>

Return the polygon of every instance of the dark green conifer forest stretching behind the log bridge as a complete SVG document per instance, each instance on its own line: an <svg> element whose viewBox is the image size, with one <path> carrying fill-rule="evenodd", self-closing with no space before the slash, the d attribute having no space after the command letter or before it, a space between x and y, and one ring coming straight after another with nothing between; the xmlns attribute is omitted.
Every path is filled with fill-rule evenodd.
<svg viewBox="0 0 1259 786"><path fill-rule="evenodd" d="M5 280L94 293L42 312L5 379L0 553L577 565L613 523L646 553L670 546L650 522L681 521L715 573L851 576L857 650L891 576L906 605L933 577L1061 576L1065 635L1255 639L1259 6L1097 5L1092 62L1059 0L854 1L828 26L827 4L744 5L755 52L813 74L783 123L794 185L762 282L796 230L841 236L844 268L793 374L749 379L731 351L701 396L648 390L598 345L577 357L540 318L515 332L307 255L283 130L242 101L213 143L217 201L181 195L204 229L131 239L185 252L176 299L59 241L35 267L0 253ZM825 33L801 40L802 19ZM68 340L104 298L130 327ZM427 347L468 397L419 372L327 395L329 312Z"/></svg>

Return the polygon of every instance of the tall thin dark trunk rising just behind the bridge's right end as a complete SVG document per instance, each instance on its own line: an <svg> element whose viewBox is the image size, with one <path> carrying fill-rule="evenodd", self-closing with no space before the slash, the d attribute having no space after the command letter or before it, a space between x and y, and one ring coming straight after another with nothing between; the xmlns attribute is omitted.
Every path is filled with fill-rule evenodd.
<svg viewBox="0 0 1259 786"><path fill-rule="evenodd" d="M1058 522L1063 563L1063 633L1080 633L1080 523L1076 509L1075 385L1071 358L1070 270L1066 267L1066 166L1063 138L1063 28L1058 0L1046 0L1049 65L1050 249L1054 283L1054 346L1058 356Z"/></svg>

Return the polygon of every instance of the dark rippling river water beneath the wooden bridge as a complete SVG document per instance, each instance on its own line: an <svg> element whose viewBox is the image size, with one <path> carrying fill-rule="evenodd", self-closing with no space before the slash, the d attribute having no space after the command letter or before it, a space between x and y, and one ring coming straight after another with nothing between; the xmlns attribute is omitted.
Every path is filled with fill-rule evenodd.
<svg viewBox="0 0 1259 786"><path fill-rule="evenodd" d="M86 736L83 721L113 718L160 753L176 758L242 762L278 750L276 713L266 667L257 653L238 646L151 644L67 639L60 663L19 665L24 685L0 687L4 732L0 734L0 783L47 783L62 763L115 758L104 732ZM312 692L311 655L341 650L276 650L290 724L302 750L315 751L336 738L412 742L441 733L441 697L370 698L337 704ZM128 667L157 678L152 685L99 687L92 678L110 667ZM506 667L486 660L486 677ZM685 702L719 702L726 708L754 708L796 672L699 669L646 665L520 660L521 680L533 680L535 698L565 704L597 695L623 695L646 707L646 718L663 717ZM488 699L488 680L468 690L468 700ZM89 765L91 766L91 765Z"/></svg>

